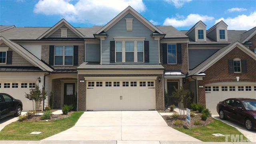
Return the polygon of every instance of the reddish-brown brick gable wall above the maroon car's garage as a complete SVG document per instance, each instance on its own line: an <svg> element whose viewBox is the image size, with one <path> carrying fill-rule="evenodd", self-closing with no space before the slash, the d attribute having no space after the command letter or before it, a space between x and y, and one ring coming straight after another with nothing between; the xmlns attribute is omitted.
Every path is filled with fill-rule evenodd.
<svg viewBox="0 0 256 144"><path fill-rule="evenodd" d="M234 58L240 58L247 62L246 73L229 73L228 72L228 60ZM221 58L218 62L213 64L204 73L206 77L203 80L198 80L198 102L206 106L205 90L199 88L199 86L205 86L205 84L216 83L216 82L236 82L236 77L239 76L241 82L256 82L256 60L248 56L239 48L234 48L226 56Z"/></svg>

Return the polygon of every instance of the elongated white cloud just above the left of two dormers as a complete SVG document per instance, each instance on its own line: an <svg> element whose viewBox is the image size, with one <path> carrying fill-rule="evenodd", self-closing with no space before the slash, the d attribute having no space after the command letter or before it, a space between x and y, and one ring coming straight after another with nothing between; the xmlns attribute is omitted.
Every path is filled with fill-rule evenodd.
<svg viewBox="0 0 256 144"><path fill-rule="evenodd" d="M180 17L180 16L179 16ZM212 16L200 15L200 14L189 14L186 18L180 19L178 17L175 18L166 18L164 20L165 26L171 25L174 27L183 27L183 26L192 26L196 24L199 20L203 22L214 20Z"/></svg>

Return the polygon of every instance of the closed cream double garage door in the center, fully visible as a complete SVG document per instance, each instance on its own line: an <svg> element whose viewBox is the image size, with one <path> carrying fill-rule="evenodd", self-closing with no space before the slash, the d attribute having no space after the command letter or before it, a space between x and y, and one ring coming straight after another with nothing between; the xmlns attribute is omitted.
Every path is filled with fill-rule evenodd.
<svg viewBox="0 0 256 144"><path fill-rule="evenodd" d="M86 110L154 110L155 81L102 80L86 82Z"/></svg>

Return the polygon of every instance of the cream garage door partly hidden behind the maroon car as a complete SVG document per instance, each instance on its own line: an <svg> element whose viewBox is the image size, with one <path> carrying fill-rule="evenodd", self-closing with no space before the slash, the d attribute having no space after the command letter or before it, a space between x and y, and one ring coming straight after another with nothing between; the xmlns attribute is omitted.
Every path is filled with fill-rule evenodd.
<svg viewBox="0 0 256 144"><path fill-rule="evenodd" d="M255 82L220 82L205 86L206 108L216 114L218 102L227 98L256 98Z"/></svg>

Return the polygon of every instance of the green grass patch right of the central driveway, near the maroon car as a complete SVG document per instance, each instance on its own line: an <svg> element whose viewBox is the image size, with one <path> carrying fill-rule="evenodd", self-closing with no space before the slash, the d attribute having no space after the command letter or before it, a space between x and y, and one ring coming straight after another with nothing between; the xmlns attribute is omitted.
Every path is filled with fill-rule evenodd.
<svg viewBox="0 0 256 144"><path fill-rule="evenodd" d="M187 128L175 128L176 130L188 134L198 140L203 142L225 142L225 136L214 136L212 134L241 134L236 128L225 124L219 120L213 119L214 121L206 126L200 126L197 128L191 128L191 130ZM247 140L245 136L243 136L243 140ZM228 139L230 142L230 137Z"/></svg>

